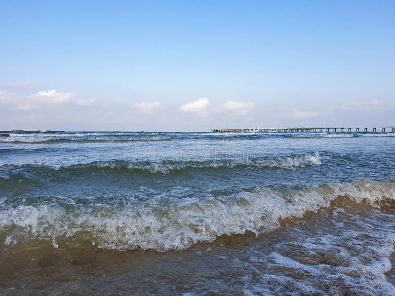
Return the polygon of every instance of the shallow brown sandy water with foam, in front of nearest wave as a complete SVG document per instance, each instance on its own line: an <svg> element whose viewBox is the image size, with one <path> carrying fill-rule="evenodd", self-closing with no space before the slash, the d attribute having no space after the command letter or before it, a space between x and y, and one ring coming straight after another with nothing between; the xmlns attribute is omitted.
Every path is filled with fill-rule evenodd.
<svg viewBox="0 0 395 296"><path fill-rule="evenodd" d="M31 240L0 253L2 295L394 295L395 210L339 197L256 237L185 251ZM70 246L70 247L69 247ZM391 259L391 261L390 261Z"/></svg>

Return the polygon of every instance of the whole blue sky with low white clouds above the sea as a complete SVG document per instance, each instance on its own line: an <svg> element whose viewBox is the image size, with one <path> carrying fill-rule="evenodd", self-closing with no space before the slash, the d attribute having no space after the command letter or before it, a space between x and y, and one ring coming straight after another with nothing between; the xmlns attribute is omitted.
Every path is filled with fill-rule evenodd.
<svg viewBox="0 0 395 296"><path fill-rule="evenodd" d="M395 1L0 0L0 130L395 125Z"/></svg>

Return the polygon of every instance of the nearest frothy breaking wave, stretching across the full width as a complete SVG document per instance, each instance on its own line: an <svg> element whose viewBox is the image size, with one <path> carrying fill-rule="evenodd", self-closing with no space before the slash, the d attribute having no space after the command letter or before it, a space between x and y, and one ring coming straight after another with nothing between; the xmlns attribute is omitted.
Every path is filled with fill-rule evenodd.
<svg viewBox="0 0 395 296"><path fill-rule="evenodd" d="M301 219L308 212L329 207L338 197L377 205L394 202L395 181L355 181L317 187L256 187L214 197L205 192L181 198L173 187L148 199L131 199L122 206L86 203L79 199L40 197L34 201L0 203L0 231L5 245L26 239L57 241L67 237L91 240L98 248L157 251L184 250L218 236L256 235L280 227L287 218Z"/></svg>

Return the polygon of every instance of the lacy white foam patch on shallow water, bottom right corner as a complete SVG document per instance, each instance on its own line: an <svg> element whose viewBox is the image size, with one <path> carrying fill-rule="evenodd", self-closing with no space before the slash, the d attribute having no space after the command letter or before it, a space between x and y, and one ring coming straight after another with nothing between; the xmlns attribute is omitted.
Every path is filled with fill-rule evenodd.
<svg viewBox="0 0 395 296"><path fill-rule="evenodd" d="M385 275L395 251L393 215L370 211L363 218L344 212L343 219L352 227L315 235L300 230L307 238L281 242L266 256L251 252L245 263L263 261L265 273L245 276L245 294L394 295Z"/></svg>

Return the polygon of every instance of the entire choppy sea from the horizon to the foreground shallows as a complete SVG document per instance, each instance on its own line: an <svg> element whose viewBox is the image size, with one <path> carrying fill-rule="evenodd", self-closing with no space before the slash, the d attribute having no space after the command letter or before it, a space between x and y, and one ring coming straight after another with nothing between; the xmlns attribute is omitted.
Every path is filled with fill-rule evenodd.
<svg viewBox="0 0 395 296"><path fill-rule="evenodd" d="M395 295L395 133L0 132L0 295Z"/></svg>

